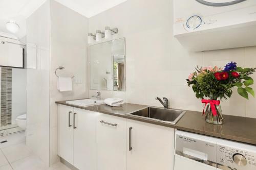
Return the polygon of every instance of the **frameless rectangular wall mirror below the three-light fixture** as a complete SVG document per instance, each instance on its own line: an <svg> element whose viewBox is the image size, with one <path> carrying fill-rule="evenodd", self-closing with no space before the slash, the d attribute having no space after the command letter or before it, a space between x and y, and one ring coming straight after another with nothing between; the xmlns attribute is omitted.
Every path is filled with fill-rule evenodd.
<svg viewBox="0 0 256 170"><path fill-rule="evenodd" d="M91 90L125 91L125 38L89 47Z"/></svg>

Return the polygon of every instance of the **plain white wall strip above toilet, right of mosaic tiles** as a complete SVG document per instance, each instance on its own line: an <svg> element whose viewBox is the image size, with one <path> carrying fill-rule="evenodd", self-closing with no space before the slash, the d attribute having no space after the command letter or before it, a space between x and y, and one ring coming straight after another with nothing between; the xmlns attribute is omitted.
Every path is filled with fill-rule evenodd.
<svg viewBox="0 0 256 170"><path fill-rule="evenodd" d="M12 68L12 124L22 114L26 114L26 69Z"/></svg>

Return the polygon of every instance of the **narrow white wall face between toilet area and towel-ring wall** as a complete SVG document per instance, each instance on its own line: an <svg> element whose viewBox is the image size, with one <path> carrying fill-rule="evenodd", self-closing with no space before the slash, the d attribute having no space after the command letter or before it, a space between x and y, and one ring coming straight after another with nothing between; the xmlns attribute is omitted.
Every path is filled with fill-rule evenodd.
<svg viewBox="0 0 256 170"><path fill-rule="evenodd" d="M34 47L27 49L27 145L46 165L49 165L49 0L28 17L27 43Z"/></svg>

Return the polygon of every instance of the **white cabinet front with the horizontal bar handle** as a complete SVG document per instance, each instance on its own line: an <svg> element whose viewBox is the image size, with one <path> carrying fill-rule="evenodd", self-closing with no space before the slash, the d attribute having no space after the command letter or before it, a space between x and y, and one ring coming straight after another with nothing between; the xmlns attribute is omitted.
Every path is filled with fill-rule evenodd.
<svg viewBox="0 0 256 170"><path fill-rule="evenodd" d="M125 118L96 112L96 170L125 170Z"/></svg>

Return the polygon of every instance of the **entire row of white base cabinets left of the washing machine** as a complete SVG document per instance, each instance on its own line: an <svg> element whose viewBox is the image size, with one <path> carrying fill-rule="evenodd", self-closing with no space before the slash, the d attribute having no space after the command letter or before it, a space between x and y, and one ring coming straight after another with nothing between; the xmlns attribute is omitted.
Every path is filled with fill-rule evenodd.
<svg viewBox="0 0 256 170"><path fill-rule="evenodd" d="M174 129L58 105L57 150L79 170L173 170Z"/></svg>

